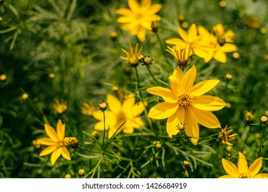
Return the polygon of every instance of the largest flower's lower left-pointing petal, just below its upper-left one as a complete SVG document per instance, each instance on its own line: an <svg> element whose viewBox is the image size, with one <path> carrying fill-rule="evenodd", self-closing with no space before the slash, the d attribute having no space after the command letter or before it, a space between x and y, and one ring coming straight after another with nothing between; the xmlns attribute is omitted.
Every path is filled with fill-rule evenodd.
<svg viewBox="0 0 268 192"><path fill-rule="evenodd" d="M173 115L178 108L179 106L177 103L169 104L167 102L163 102L153 106L153 108L150 108L148 117L153 119L166 119Z"/></svg>

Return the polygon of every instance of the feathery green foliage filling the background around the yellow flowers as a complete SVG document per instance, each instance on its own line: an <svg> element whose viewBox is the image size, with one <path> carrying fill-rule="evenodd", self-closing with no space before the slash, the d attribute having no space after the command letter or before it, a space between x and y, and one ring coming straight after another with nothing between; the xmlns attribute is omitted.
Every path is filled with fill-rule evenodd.
<svg viewBox="0 0 268 192"><path fill-rule="evenodd" d="M116 21L115 10L126 1L5 0L0 5L0 75L6 75L0 80L0 178L64 178L67 173L72 178L218 178L225 174L221 158L236 163L238 152L249 164L263 156L260 172L268 172L267 125L259 121L268 112L267 1L227 1L225 7L216 0L153 3L163 5L159 31L157 36L146 34L142 43ZM205 63L196 56L190 60L197 67L195 83L221 80L210 95L230 104L214 114L223 128L228 125L238 134L231 150L217 140L219 129L200 125L201 139L194 146L183 132L170 139L166 119L147 117L162 100L146 88L168 88L168 76L176 67L163 47L166 39L179 38L179 14L190 24L212 29L223 23L235 33L240 58L227 53L225 64ZM111 32L118 36L112 38ZM120 56L121 49L129 50L129 42L143 46L142 53L153 64L139 65L137 71L128 67ZM227 80L226 74L233 78ZM81 113L82 104L91 101L97 108L107 94L120 97L113 86L134 93L136 101L148 101L141 115L145 125L111 139L101 131L96 139L91 132L98 121ZM56 112L54 99L67 101L66 112ZM252 110L252 124L245 121L245 110ZM32 141L46 137L44 123L56 125L58 119L68 127L65 136L76 136L79 147L69 148L71 161L60 157L51 165L50 155L38 156L44 147L35 149ZM81 167L84 176L78 175Z"/></svg>

